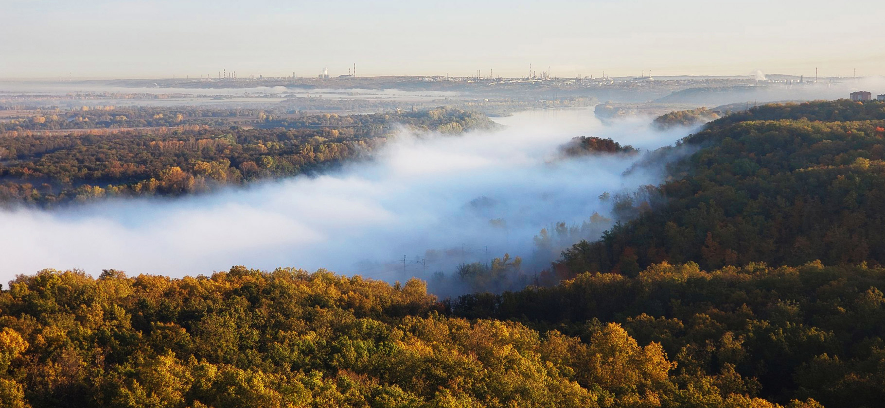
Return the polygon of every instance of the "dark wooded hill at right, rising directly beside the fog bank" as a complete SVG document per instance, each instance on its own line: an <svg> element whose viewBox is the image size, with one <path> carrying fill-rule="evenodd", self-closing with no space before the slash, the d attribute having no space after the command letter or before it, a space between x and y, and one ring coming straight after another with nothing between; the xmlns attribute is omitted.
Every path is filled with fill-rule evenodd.
<svg viewBox="0 0 885 408"><path fill-rule="evenodd" d="M885 103L766 105L683 140L666 204L563 253L557 276L635 276L661 261L702 268L885 263Z"/></svg>

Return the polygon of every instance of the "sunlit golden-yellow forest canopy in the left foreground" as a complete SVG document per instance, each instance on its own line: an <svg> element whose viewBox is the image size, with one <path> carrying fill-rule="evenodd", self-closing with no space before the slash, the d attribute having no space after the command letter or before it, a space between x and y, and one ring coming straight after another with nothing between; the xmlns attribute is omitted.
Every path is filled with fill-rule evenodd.
<svg viewBox="0 0 885 408"><path fill-rule="evenodd" d="M673 342L649 343L660 342L656 328L677 321L637 317L645 330L633 329L635 322L574 321L566 329L581 337L569 336L515 321L447 316L425 289L418 280L391 286L325 271L242 267L183 279L129 278L112 270L98 279L76 271L20 276L0 293L0 403L774 406L754 398L758 382L735 371L743 337L717 336L724 328L709 317L697 323L709 326L700 336L731 342L712 374L704 370L707 349L677 358L667 355ZM789 336L812 336L794 331ZM780 351L778 340L772 342L766 346ZM809 347L830 350L814 340ZM833 360L820 361L827 363Z"/></svg>

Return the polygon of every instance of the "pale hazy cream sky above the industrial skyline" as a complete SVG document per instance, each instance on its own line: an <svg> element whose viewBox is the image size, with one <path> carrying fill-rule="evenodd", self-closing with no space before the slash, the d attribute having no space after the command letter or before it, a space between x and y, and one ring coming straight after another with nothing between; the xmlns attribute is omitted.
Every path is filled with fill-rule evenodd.
<svg viewBox="0 0 885 408"><path fill-rule="evenodd" d="M0 78L885 74L885 2L0 0Z"/></svg>

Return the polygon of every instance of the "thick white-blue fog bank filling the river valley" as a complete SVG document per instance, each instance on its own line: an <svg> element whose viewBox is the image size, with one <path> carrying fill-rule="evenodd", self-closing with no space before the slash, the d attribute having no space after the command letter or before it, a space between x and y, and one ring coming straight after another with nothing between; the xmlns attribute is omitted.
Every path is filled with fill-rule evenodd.
<svg viewBox="0 0 885 408"><path fill-rule="evenodd" d="M539 230L605 215L610 204L598 200L601 193L659 181L623 175L641 155L560 160L558 146L586 135L652 149L687 134L655 132L645 122L604 126L593 110L496 120L507 127L404 134L376 160L319 177L175 200L0 212L0 281L42 268L196 276L233 265L328 268L392 281L504 253L540 268L550 259L535 253Z"/></svg>

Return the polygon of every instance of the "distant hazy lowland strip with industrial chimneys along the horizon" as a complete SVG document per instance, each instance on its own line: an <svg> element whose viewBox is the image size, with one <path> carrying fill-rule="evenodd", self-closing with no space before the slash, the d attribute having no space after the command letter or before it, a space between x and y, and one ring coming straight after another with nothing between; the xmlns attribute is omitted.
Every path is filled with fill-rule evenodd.
<svg viewBox="0 0 885 408"><path fill-rule="evenodd" d="M838 99L875 89L879 76L802 75L664 77L353 77L329 79L65 79L0 80L0 121L86 108L204 107L268 114L377 113L439 106L506 116L519 110L600 104L600 118L658 116L698 107L744 110L766 102Z"/></svg>

